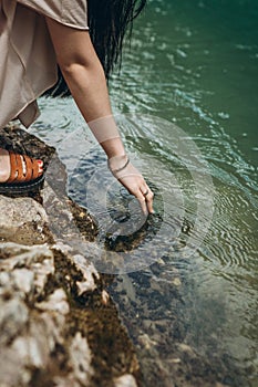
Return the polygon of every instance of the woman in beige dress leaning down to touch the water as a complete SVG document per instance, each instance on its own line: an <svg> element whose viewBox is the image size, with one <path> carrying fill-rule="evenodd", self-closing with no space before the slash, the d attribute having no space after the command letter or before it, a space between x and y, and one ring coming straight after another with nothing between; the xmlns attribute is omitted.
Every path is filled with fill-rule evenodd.
<svg viewBox="0 0 258 387"><path fill-rule="evenodd" d="M122 185L153 212L153 192L125 153L114 122L106 77L118 61L126 28L146 0L0 0L0 128L38 117L37 97L66 85ZM61 74L60 73L60 74ZM65 82L64 82L65 80ZM42 161L0 145L0 192L42 179Z"/></svg>

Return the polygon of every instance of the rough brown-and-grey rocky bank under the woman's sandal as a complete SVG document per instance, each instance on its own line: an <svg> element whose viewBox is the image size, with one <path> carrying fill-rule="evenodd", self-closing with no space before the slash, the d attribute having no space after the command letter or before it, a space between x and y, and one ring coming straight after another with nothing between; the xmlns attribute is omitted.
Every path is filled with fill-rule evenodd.
<svg viewBox="0 0 258 387"><path fill-rule="evenodd" d="M137 386L104 279L76 248L86 252L97 229L65 196L63 165L20 129L2 130L0 146L25 146L50 166L40 195L0 196L0 387Z"/></svg>

